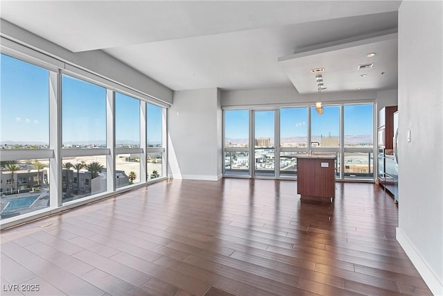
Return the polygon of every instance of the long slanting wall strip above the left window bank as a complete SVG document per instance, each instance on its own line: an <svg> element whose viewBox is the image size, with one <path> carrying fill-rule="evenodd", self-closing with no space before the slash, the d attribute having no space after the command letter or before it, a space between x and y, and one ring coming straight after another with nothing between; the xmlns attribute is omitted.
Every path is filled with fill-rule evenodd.
<svg viewBox="0 0 443 296"><path fill-rule="evenodd" d="M165 103L172 103L172 90L159 82L143 75L123 62L116 60L104 51L84 51L73 53L57 44L49 42L14 24L1 19L1 33L10 40L17 40L33 49L43 51L48 55L69 62L76 67L87 69L93 73L114 80L138 92L152 96Z"/></svg>

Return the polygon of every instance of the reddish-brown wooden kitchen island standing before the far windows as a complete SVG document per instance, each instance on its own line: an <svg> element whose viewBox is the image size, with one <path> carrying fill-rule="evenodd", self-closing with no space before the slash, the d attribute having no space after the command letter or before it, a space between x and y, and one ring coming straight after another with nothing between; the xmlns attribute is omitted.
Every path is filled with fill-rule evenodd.
<svg viewBox="0 0 443 296"><path fill-rule="evenodd" d="M335 197L335 154L297 155L297 193L303 199L333 202Z"/></svg>

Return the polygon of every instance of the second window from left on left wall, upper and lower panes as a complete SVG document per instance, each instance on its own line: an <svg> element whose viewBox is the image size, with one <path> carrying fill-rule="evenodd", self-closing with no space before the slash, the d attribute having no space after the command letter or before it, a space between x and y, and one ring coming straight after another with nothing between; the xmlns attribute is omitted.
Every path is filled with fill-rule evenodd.
<svg viewBox="0 0 443 296"><path fill-rule="evenodd" d="M107 191L105 87L62 75L61 118L62 201Z"/></svg>

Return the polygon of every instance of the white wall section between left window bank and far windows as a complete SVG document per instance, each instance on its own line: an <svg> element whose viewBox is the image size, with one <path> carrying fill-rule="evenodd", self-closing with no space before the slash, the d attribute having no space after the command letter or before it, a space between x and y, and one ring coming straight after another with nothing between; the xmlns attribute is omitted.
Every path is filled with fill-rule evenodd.
<svg viewBox="0 0 443 296"><path fill-rule="evenodd" d="M177 179L221 178L219 90L174 92L168 110L168 174Z"/></svg>

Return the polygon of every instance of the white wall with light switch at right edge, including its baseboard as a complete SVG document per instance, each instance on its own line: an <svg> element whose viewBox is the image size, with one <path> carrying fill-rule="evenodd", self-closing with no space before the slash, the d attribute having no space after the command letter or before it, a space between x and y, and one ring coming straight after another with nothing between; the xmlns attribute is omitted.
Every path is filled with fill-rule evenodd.
<svg viewBox="0 0 443 296"><path fill-rule="evenodd" d="M435 295L443 295L442 10L442 1L399 8L397 240Z"/></svg>

